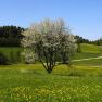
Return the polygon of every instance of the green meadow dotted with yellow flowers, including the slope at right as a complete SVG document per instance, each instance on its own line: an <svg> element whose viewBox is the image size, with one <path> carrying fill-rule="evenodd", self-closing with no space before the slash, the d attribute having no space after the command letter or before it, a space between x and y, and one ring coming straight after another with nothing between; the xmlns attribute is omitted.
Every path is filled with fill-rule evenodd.
<svg viewBox="0 0 102 102"><path fill-rule="evenodd" d="M98 46L81 46L73 59L102 54ZM52 74L39 63L0 65L0 102L102 102L102 59L60 65Z"/></svg>

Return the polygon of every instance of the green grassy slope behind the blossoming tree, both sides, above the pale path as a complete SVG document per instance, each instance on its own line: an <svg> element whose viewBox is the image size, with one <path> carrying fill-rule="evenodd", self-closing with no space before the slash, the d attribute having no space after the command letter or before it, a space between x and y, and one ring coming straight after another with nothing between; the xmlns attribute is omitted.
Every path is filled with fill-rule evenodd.
<svg viewBox="0 0 102 102"><path fill-rule="evenodd" d="M17 47L8 47L0 48L0 52L4 53L8 58L10 58L10 52L16 53L17 51L22 51L22 48ZM94 44L81 44L81 53L76 53L73 59L87 59L87 58L95 58L102 55L102 48L100 46Z"/></svg>

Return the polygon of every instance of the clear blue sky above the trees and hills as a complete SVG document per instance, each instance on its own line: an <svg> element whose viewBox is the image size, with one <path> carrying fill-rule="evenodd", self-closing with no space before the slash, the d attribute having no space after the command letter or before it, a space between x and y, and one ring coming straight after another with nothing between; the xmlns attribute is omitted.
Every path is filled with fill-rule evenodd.
<svg viewBox="0 0 102 102"><path fill-rule="evenodd" d="M0 0L0 26L63 18L74 35L102 37L102 0Z"/></svg>

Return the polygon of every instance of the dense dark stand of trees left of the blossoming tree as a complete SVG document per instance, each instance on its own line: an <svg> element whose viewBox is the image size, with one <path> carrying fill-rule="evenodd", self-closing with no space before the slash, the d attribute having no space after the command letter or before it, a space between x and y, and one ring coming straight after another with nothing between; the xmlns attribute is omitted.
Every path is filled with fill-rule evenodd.
<svg viewBox="0 0 102 102"><path fill-rule="evenodd" d="M20 47L23 27L0 26L0 47Z"/></svg>

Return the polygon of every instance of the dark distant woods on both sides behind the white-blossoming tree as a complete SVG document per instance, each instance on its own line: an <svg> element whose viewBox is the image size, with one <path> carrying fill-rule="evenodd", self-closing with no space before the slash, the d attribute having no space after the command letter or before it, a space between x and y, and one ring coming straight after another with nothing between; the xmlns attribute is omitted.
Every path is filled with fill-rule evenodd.
<svg viewBox="0 0 102 102"><path fill-rule="evenodd" d="M20 47L21 39L24 37L22 35L24 30L25 28L17 26L0 26L0 47ZM77 43L102 44L102 39L90 41L77 35L75 39Z"/></svg>

